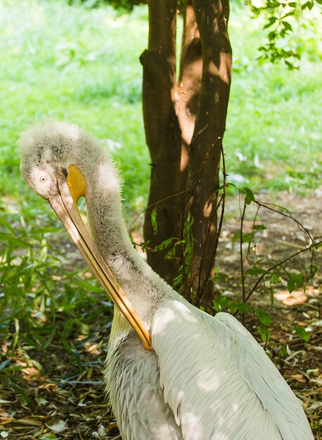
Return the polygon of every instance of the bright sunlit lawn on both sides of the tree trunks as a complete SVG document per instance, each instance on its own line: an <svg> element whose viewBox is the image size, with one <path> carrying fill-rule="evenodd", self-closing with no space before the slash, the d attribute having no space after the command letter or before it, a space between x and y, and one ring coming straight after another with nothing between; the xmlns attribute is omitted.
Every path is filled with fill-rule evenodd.
<svg viewBox="0 0 322 440"><path fill-rule="evenodd" d="M22 183L16 140L44 115L68 119L113 150L130 210L144 207L148 150L141 114L141 65L146 9L120 15L108 7L67 2L0 1L0 190L44 205ZM261 20L234 7L230 34L234 72L225 139L231 179L254 190L321 185L321 48L307 30L300 71L257 63ZM13 199L12 199L13 198ZM9 204L10 205L10 204ZM129 210L127 210L127 214Z"/></svg>

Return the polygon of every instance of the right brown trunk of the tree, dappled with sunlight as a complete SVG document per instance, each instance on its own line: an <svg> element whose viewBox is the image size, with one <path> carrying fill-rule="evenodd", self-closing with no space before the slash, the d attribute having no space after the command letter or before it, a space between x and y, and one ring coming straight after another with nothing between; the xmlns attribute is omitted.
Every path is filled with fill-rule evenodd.
<svg viewBox="0 0 322 440"><path fill-rule="evenodd" d="M221 0L193 0L202 46L202 79L187 182L188 188L194 187L187 204L193 217L194 252L183 291L188 299L197 292L197 304L202 292L207 292L205 282L212 268L217 235L220 146L226 127L232 65L227 5L224 10Z"/></svg>

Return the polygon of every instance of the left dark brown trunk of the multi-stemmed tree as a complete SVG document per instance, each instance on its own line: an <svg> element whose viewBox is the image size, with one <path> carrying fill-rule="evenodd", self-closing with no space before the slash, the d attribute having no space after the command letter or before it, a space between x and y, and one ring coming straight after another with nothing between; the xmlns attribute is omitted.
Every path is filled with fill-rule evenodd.
<svg viewBox="0 0 322 440"><path fill-rule="evenodd" d="M181 130L174 110L176 91L176 0L148 1L148 50L141 55L143 65L143 118L150 150L150 194L143 232L154 248L171 237L179 237L181 193L186 184L181 172ZM170 199L168 199L171 197ZM166 200L165 200L166 199ZM165 200L165 201L162 201ZM157 203L157 232L151 221ZM163 252L148 251L148 262L172 283L179 270L179 259L170 261Z"/></svg>

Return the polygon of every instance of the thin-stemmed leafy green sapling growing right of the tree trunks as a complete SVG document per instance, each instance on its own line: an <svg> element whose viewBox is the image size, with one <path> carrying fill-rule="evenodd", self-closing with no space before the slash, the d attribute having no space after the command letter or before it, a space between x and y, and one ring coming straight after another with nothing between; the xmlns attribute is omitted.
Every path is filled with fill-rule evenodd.
<svg viewBox="0 0 322 440"><path fill-rule="evenodd" d="M235 187L234 185L228 184L227 189L232 186ZM255 309L249 304L250 297L252 297L255 292L264 290L266 295L269 295L271 306L273 306L274 291L281 288L282 285L285 285L290 293L292 293L295 288L304 288L305 283L308 281L311 282L316 275L317 267L314 264L314 250L321 247L322 241L314 239L307 228L305 228L300 221L297 221L285 207L274 205L273 203L260 202L255 198L250 188L238 188L238 192L243 198L243 208L240 207L240 233L233 235L232 242L238 241L240 243L240 278L238 278L233 285L228 285L228 278L225 274L220 273L219 269L215 268L214 276L212 276L211 279L214 283L217 283L216 285L219 292L226 292L228 290L236 292L238 291L238 287L239 289L241 287L240 299L236 300L236 297L234 299L228 299L225 294L218 295L214 299L213 306L217 312L229 311L230 313L242 313L244 315L247 311L257 316L259 321L259 336L266 344L270 338L269 327L271 325L271 315L262 309ZM244 232L243 224L246 216L246 208L250 205L257 206L257 209L252 219L250 231ZM261 240L261 235L264 231L266 232L269 229L269 227L264 224L257 224L259 209L271 210L279 214L279 216L286 217L294 222L306 236L307 247L291 253L288 257L280 261L270 256L266 258L263 256L258 257L257 246ZM301 264L297 264L297 257L304 252L307 252L310 258L309 264L303 267ZM245 258L247 260L247 270L245 270ZM305 342L309 341L309 332L302 326L297 326L295 332L297 332Z"/></svg>

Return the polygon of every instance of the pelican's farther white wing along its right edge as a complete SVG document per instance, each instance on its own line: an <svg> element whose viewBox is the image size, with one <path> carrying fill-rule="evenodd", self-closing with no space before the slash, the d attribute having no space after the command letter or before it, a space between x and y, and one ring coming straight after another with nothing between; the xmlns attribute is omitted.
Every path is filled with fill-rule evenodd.
<svg viewBox="0 0 322 440"><path fill-rule="evenodd" d="M223 325L221 335L226 337L221 343L226 353L271 414L283 440L314 439L300 401L250 332L228 313L217 313L215 318L202 313L202 318L214 337L218 324Z"/></svg>

